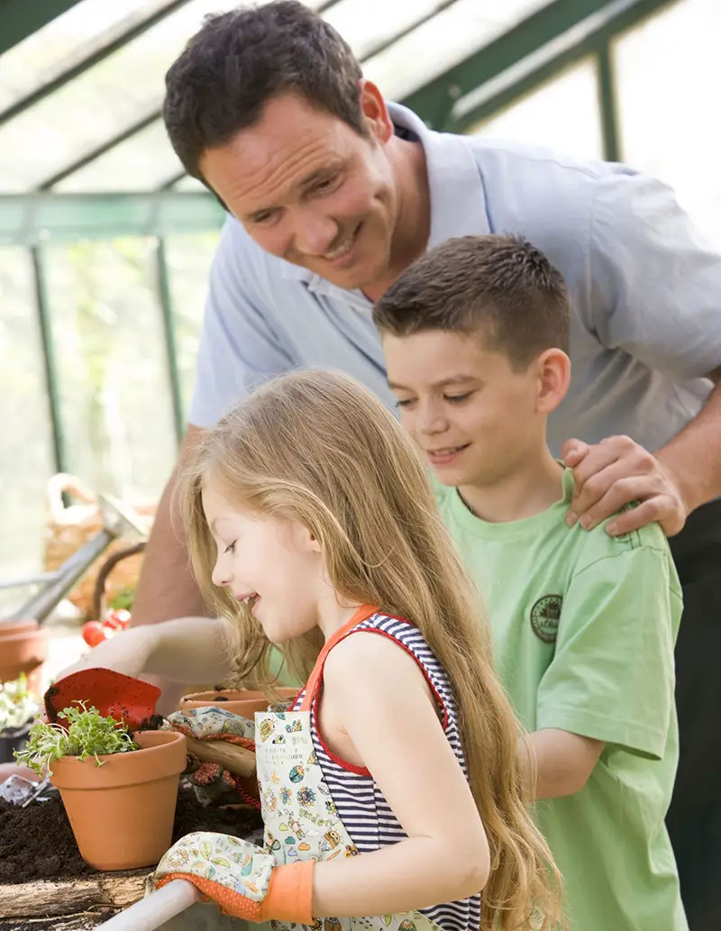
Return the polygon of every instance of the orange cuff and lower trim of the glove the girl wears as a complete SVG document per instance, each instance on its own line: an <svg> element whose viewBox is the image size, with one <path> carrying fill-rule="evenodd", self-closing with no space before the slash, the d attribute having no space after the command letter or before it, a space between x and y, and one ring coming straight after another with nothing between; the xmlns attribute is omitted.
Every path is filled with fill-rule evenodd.
<svg viewBox="0 0 721 931"><path fill-rule="evenodd" d="M225 915L244 918L262 924L276 920L294 924L313 924L313 870L315 860L299 860L276 867L270 875L270 884L262 902L228 889L204 876L173 872L156 883L156 889L174 879L184 879L211 898Z"/></svg>

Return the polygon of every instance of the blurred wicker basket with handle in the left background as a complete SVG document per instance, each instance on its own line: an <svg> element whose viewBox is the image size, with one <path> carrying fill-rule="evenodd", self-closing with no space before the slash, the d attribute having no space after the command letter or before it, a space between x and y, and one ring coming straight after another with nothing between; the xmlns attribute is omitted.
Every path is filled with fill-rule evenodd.
<svg viewBox="0 0 721 931"><path fill-rule="evenodd" d="M63 503L63 494L67 494L77 503L66 507ZM146 524L149 531L155 514L155 506L133 506L133 510L138 515L138 522L141 525ZM96 495L75 476L64 472L53 476L48 481L48 519L45 529L44 560L46 570L54 572L59 569L65 560L101 530L102 514ZM65 596L85 617L90 617L93 611L93 593L102 564L109 556L126 550L132 543L133 541L122 537L114 540L102 555L88 566L88 571L81 576L75 588ZM113 600L124 588L137 583L142 560L142 552L137 552L129 559L116 564L112 577L105 580L105 600Z"/></svg>

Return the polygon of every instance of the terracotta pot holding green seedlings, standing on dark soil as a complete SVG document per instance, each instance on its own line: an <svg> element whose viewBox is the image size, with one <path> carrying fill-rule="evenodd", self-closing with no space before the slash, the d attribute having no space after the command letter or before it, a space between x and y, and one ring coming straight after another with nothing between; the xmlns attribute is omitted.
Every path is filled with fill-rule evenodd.
<svg viewBox="0 0 721 931"><path fill-rule="evenodd" d="M80 856L96 870L156 866L170 847L185 737L140 731L133 738L141 749L102 756L102 766L94 757L52 763L50 781L60 789Z"/></svg>

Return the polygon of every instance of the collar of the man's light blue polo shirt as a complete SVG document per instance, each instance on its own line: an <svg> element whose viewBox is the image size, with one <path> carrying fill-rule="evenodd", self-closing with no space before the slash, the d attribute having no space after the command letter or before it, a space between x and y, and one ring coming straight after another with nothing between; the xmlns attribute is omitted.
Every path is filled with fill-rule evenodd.
<svg viewBox="0 0 721 931"><path fill-rule="evenodd" d="M433 132L412 110L388 102L393 123L417 136L426 155L430 188L429 249L452 236L483 236L490 232L483 181L475 156L463 136ZM338 288L314 272L279 260L284 278L303 281L308 290L370 307L360 290Z"/></svg>

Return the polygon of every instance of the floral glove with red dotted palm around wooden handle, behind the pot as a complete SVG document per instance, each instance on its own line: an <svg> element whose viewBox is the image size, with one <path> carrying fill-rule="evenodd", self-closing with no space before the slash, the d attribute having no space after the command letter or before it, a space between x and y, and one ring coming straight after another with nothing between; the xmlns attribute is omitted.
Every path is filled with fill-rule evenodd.
<svg viewBox="0 0 721 931"><path fill-rule="evenodd" d="M253 752L255 750L255 724L224 708L175 711L168 717L168 726L196 740L225 741ZM201 805L228 801L229 795L237 799L239 795L254 807L259 807L257 785L253 777L237 776L217 762L202 762L192 750L188 752L184 776Z"/></svg>

